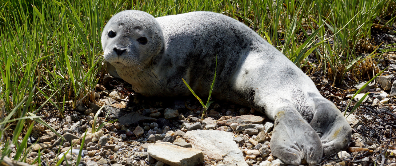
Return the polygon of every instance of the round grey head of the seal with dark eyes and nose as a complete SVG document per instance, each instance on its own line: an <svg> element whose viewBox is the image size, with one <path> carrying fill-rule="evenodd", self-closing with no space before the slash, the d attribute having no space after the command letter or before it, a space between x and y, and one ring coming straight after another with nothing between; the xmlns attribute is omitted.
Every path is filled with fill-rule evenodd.
<svg viewBox="0 0 396 166"><path fill-rule="evenodd" d="M160 25L144 11L117 13L102 32L103 57L116 68L141 68L161 52L164 43Z"/></svg>

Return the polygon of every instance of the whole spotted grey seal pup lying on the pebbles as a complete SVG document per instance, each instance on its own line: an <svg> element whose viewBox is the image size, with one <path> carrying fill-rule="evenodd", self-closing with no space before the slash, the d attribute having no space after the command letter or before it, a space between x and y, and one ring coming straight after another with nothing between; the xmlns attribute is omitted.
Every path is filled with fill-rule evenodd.
<svg viewBox="0 0 396 166"><path fill-rule="evenodd" d="M346 149L351 128L337 107L285 55L239 21L197 11L154 18L114 15L101 37L109 71L144 96L212 96L274 120L271 152L287 164L317 164Z"/></svg>

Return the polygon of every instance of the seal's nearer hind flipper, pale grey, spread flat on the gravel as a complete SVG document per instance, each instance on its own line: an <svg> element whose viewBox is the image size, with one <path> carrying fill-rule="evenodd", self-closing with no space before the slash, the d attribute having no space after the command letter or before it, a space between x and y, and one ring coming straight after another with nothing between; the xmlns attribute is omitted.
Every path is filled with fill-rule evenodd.
<svg viewBox="0 0 396 166"><path fill-rule="evenodd" d="M318 134L295 108L284 107L276 111L271 137L271 153L287 164L318 164L323 155Z"/></svg>

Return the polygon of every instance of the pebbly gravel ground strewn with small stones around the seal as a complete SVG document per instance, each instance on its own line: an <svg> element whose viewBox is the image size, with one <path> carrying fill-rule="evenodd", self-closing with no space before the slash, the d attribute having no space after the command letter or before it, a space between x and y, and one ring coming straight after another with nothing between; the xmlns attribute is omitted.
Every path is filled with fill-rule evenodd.
<svg viewBox="0 0 396 166"><path fill-rule="evenodd" d="M389 72L392 74L392 71ZM391 75L390 80L393 78ZM322 90L324 96L333 100L340 110L345 110L346 104L350 100L348 91L340 93L340 91L335 91L335 88L328 86L329 82L326 79L315 77L312 79L318 89ZM388 78L386 77L386 79ZM106 80L110 81L106 82ZM243 162L246 161L246 164L237 163L238 166L284 165L281 160L273 157L270 153L273 122L269 121L262 113L227 102L215 102L210 107L206 118L201 120L200 115L202 115L203 109L195 98L145 98L133 95L133 93L128 96L125 93L128 89L124 88L128 85L120 81L107 75L104 77L104 83L107 85L97 85L97 92L91 95L91 103L88 106L78 105L76 110L70 109L67 111L69 115L64 119L48 117L46 119L48 123L67 141L61 141L56 134L48 129L42 130L36 135L32 134L29 144L33 148L26 162L34 162L38 158L38 149L40 149L42 164L56 165L59 158L64 156L67 160L61 162L61 165L76 165L78 149L82 145L81 138L88 130L82 150L81 166L191 164L191 162L175 164L173 157L176 157L176 160L199 160L198 165L223 165L230 160L234 162L227 165L235 165L238 157L242 157ZM118 85L114 86L114 84ZM353 134L349 148L338 155L323 158L321 165L366 166L374 163L396 165L394 158L396 150L393 141L396 106L394 106L392 98L389 98L390 90L383 91L383 87L386 86L377 84L376 87L371 87L371 90L368 89L368 91L372 91L369 98L362 103L362 107L347 118ZM390 87L392 89L392 85ZM124 94L120 92L124 92ZM333 95L333 93L339 95ZM133 100L133 102L126 102L128 100ZM354 103L356 102L351 103L350 108ZM103 122L107 122L107 124L92 134L93 117L102 105L106 106L99 113L96 126L99 127ZM118 121L114 122L116 119ZM208 133L203 133L202 136L197 133L199 130L206 130ZM210 137L209 131L214 130L219 133ZM227 133L229 134L227 135ZM229 139L228 136L230 136ZM211 143L218 142L216 140L221 138L225 139L223 145L222 143ZM200 146L199 139L203 139L205 143L216 148L206 149L207 147ZM155 145L153 145L154 143ZM172 148L176 147L164 150L166 155L162 157L160 154L150 152L150 148L165 146L160 143L165 143L167 146L177 145L187 149L188 152L200 150L198 155L194 152L195 157L201 156L201 151L204 153L198 159L194 157L180 159L177 158L181 156L177 154L177 151L181 150L172 151ZM226 146L224 143L229 144ZM191 147L195 150L192 150ZM222 151L222 147L237 148L241 153L235 158L227 159L226 157L215 157L209 152L217 149ZM72 150L64 155L70 148ZM229 152L223 150L221 153ZM188 153L185 152L185 154ZM230 154L226 156L228 155Z"/></svg>

